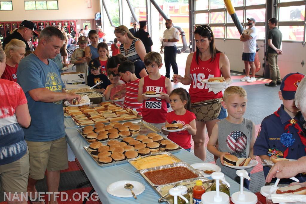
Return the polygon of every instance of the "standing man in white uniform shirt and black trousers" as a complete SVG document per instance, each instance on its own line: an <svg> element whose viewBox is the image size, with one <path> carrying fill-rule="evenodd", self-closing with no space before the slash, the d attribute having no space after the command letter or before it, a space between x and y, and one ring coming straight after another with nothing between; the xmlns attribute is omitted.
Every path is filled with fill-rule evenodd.
<svg viewBox="0 0 306 204"><path fill-rule="evenodd" d="M178 30L173 27L171 19L166 20L165 25L167 29L164 31L160 53L163 53L162 48L164 47L164 60L166 67L165 76L170 78L170 66L172 66L173 74L178 74L176 63L176 42L179 41L179 34Z"/></svg>

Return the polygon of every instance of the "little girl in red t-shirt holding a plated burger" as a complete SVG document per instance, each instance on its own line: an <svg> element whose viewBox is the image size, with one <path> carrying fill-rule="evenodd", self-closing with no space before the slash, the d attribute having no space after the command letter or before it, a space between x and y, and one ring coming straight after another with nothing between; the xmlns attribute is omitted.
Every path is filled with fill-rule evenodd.
<svg viewBox="0 0 306 204"><path fill-rule="evenodd" d="M171 91L169 99L173 111L166 114L165 125L181 123L186 127L186 130L179 132L168 132L162 129L162 132L165 135L168 135L168 139L190 152L191 135L196 135L196 116L194 113L190 112L190 96L185 89L176 88Z"/></svg>

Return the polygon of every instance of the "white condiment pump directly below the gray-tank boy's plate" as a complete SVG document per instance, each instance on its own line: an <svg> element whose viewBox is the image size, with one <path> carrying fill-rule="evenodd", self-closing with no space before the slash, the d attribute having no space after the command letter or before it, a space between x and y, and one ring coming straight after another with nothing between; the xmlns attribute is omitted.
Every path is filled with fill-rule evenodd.
<svg viewBox="0 0 306 204"><path fill-rule="evenodd" d="M243 191L243 179L251 180L248 176L248 172L244 169L236 171L236 174L240 176L240 191L232 195L232 202L235 204L256 204L257 196L252 192Z"/></svg>

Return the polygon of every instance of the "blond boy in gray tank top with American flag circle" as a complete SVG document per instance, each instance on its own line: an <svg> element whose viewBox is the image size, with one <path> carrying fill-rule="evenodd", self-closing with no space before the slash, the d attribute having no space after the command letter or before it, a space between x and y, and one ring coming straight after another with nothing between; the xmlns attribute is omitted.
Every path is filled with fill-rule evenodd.
<svg viewBox="0 0 306 204"><path fill-rule="evenodd" d="M256 140L255 124L245 119L247 93L237 86L228 87L224 91L222 106L227 109L228 116L215 124L207 144L207 150L219 157L216 164L221 172L240 183L236 175L237 169L224 166L223 157L232 154L238 158L256 159L253 155L253 146ZM216 144L218 143L218 147ZM218 149L217 149L218 148ZM253 168L245 169L249 174ZM244 179L244 187L248 188L250 182Z"/></svg>

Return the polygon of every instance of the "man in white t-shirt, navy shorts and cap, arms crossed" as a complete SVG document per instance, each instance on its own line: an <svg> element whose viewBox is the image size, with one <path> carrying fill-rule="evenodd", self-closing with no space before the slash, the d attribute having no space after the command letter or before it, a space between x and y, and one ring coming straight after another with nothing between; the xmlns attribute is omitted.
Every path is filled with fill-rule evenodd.
<svg viewBox="0 0 306 204"><path fill-rule="evenodd" d="M242 49L242 60L244 61L245 74L240 81L247 81L249 83L255 82L255 54L256 54L256 39L257 39L257 28L255 28L256 20L254 18L247 18L248 20L248 28L245 29L241 36L240 41L243 42ZM250 78L250 68L252 72L252 76Z"/></svg>

